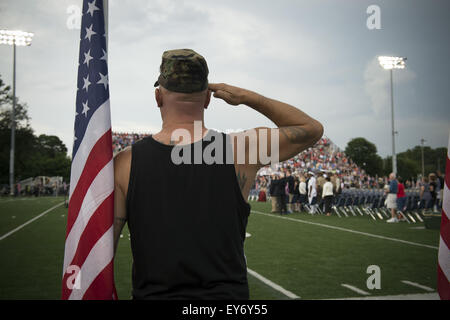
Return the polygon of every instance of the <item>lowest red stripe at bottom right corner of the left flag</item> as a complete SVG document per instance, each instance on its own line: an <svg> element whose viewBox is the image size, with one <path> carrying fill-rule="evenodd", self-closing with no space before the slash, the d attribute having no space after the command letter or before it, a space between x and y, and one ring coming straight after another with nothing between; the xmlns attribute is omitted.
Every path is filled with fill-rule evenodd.
<svg viewBox="0 0 450 320"><path fill-rule="evenodd" d="M113 292L111 297L108 293ZM117 292L114 287L114 259L99 273L86 290L83 300L117 300Z"/></svg>

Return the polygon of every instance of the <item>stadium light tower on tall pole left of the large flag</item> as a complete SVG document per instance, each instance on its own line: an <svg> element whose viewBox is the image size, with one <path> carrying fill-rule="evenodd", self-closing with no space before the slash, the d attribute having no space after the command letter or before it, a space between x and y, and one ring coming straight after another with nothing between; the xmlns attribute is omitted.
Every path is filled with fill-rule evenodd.
<svg viewBox="0 0 450 320"><path fill-rule="evenodd" d="M11 109L11 152L9 157L9 194L14 195L14 149L16 145L16 46L29 46L33 33L20 30L0 30L0 44L13 46L13 106Z"/></svg>

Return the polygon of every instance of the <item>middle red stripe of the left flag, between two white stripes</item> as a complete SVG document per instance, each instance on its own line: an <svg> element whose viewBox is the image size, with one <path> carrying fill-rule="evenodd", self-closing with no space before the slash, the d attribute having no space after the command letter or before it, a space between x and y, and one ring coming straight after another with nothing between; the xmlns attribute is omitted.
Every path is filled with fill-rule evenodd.
<svg viewBox="0 0 450 320"><path fill-rule="evenodd" d="M83 233L80 236L80 240L78 241L77 251L69 264L69 266L78 266L80 269L82 268L84 261L89 255L91 249L97 243L97 241L105 234L106 231L113 224L113 217L111 216L111 212L114 211L114 192L112 192L97 208L97 210L92 215L91 219L89 219L88 224L83 230ZM68 299L72 290L66 285L67 279L72 274L64 273L63 276L63 292L62 298Z"/></svg>

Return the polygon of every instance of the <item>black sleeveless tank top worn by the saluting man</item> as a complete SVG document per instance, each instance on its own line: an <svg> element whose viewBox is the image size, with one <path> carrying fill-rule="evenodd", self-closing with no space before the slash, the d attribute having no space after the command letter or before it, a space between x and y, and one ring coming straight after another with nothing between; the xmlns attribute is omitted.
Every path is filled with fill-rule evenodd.
<svg viewBox="0 0 450 320"><path fill-rule="evenodd" d="M134 299L249 298L244 240L250 205L234 164L226 164L230 137L209 130L188 147L194 163L194 149L205 150L219 136L223 164L174 164L177 147L151 136L133 145L127 214Z"/></svg>

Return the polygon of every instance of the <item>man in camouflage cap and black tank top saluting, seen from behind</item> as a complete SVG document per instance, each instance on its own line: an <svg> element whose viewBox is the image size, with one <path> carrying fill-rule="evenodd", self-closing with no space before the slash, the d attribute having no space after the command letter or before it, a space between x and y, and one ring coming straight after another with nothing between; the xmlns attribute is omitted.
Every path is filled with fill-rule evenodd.
<svg viewBox="0 0 450 320"><path fill-rule="evenodd" d="M231 85L208 84L208 72L205 59L193 50L164 52L155 83L161 131L114 160L115 248L127 222L134 299L248 299L246 199L256 172L266 164L258 146L263 142L272 150L271 144L278 144L279 160L284 161L323 133L317 120L291 105ZM248 132L225 135L205 126L212 93L230 105L262 113L277 128L255 128L257 143L244 139L239 149L232 142ZM195 123L201 128L198 139ZM180 130L193 138L174 140L173 133ZM272 136L278 141L271 141ZM223 156L224 161L174 163L173 148L182 145L183 156L193 158L195 150L208 148L212 137L223 138L223 155L216 152L215 158ZM230 152L232 161L225 161ZM255 154L256 161L250 161Z"/></svg>

